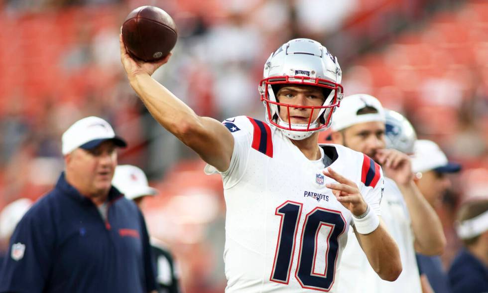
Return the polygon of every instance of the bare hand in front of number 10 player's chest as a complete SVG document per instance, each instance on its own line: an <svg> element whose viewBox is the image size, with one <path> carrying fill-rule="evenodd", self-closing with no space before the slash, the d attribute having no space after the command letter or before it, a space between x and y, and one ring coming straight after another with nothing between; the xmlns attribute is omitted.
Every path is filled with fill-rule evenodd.
<svg viewBox="0 0 488 293"><path fill-rule="evenodd" d="M322 173L338 182L327 183L325 186L332 189L332 193L337 200L349 209L353 215L359 217L366 212L367 204L356 183L334 171L331 167L324 169Z"/></svg>

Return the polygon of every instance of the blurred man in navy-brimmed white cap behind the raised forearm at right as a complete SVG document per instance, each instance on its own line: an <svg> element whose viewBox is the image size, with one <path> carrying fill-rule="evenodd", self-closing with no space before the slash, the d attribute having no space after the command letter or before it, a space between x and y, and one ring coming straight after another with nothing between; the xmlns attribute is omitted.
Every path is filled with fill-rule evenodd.
<svg viewBox="0 0 488 293"><path fill-rule="evenodd" d="M432 141L418 140L414 145L412 170L420 192L432 207L441 203L442 196L451 186L447 173L461 170L461 165L449 162L444 152ZM419 269L432 286L434 292L448 293L449 281L439 256L417 254Z"/></svg>

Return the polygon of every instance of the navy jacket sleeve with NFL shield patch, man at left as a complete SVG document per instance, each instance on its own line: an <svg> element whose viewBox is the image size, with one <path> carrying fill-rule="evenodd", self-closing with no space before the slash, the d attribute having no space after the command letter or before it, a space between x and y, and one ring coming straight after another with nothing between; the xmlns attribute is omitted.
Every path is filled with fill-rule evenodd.
<svg viewBox="0 0 488 293"><path fill-rule="evenodd" d="M50 220L47 213L34 206L18 223L1 264L0 292L43 292L53 259L54 231ZM16 247L17 260L12 258L12 247Z"/></svg>

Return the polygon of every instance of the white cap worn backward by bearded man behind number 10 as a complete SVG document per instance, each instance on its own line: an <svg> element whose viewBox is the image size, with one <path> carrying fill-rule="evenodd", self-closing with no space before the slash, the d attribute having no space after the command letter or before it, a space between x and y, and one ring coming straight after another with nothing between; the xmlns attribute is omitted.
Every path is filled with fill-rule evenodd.
<svg viewBox="0 0 488 293"><path fill-rule="evenodd" d="M365 107L374 108L377 113L358 115L358 111ZM384 109L378 99L366 94L351 95L344 97L340 107L336 108L336 112L332 115L331 129L340 131L359 123L372 121L385 122Z"/></svg>

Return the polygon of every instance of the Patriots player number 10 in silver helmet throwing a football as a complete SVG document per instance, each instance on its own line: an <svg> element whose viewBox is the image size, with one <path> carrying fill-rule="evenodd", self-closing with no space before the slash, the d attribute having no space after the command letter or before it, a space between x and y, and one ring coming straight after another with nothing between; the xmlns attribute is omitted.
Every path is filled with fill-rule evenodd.
<svg viewBox="0 0 488 293"><path fill-rule="evenodd" d="M266 122L199 117L151 74L169 59L130 58L130 85L152 116L222 175L226 292L336 292L350 225L378 275L401 272L398 247L379 218L378 164L344 146L319 146L343 96L341 68L319 42L293 39L273 52L259 83ZM353 276L351 276L354 278Z"/></svg>

